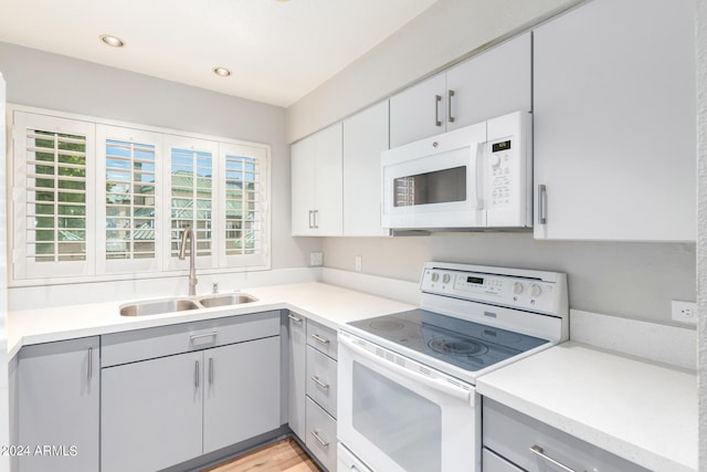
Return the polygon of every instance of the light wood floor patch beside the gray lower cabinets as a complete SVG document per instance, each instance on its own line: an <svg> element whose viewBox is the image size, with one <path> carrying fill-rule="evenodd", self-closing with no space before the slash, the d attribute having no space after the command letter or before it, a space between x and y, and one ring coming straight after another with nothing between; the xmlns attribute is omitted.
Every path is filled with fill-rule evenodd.
<svg viewBox="0 0 707 472"><path fill-rule="evenodd" d="M202 472L321 472L292 438L256 449Z"/></svg>

